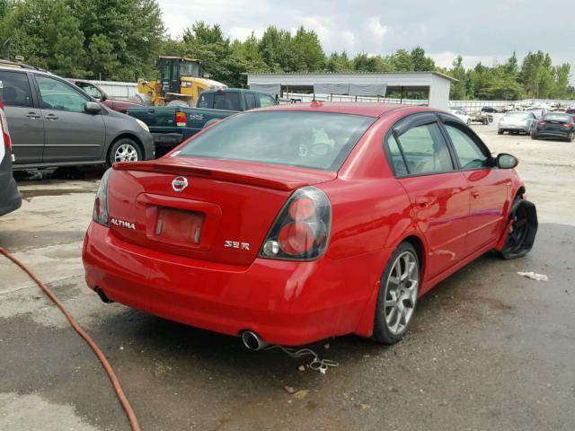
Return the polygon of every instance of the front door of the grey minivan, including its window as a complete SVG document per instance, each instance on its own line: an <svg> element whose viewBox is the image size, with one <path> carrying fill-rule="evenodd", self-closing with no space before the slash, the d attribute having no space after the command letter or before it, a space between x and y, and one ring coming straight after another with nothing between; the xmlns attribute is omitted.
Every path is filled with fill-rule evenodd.
<svg viewBox="0 0 575 431"><path fill-rule="evenodd" d="M57 78L35 75L44 119L43 163L95 162L104 157L106 129L102 114L85 112L91 101Z"/></svg>

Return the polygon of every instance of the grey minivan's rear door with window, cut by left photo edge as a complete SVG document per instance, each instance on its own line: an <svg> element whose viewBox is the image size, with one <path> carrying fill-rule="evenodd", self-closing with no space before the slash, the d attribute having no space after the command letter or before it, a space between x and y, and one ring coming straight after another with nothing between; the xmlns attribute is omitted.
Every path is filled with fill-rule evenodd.
<svg viewBox="0 0 575 431"><path fill-rule="evenodd" d="M24 71L0 71L0 91L10 127L14 164L41 163L44 151L44 118Z"/></svg>

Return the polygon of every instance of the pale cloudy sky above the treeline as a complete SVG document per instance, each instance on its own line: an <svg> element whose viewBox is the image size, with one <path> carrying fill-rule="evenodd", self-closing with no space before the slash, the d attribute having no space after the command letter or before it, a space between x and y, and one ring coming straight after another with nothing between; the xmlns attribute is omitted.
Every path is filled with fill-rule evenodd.
<svg viewBox="0 0 575 431"><path fill-rule="evenodd" d="M219 23L232 39L269 25L317 32L327 54L345 49L388 55L422 46L439 66L465 66L541 49L571 64L575 82L575 1L555 0L158 0L173 37L196 21Z"/></svg>

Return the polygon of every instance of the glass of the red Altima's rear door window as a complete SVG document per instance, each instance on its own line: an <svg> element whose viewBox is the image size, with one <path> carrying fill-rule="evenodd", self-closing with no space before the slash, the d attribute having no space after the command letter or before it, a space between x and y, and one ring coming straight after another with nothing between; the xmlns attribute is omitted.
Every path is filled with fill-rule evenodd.
<svg viewBox="0 0 575 431"><path fill-rule="evenodd" d="M447 144L437 123L410 128L398 136L411 175L454 170Z"/></svg>

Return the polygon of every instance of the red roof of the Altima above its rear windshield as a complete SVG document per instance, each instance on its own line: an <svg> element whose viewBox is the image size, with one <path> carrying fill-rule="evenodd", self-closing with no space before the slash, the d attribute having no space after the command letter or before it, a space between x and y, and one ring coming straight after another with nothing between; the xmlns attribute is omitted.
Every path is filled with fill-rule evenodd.
<svg viewBox="0 0 575 431"><path fill-rule="evenodd" d="M316 112L329 112L339 114L355 114L367 117L381 117L392 110L417 110L427 111L427 107L400 105L396 103L361 103L361 102L329 102L329 101L312 101L310 103L286 103L283 105L270 106L260 110L303 110Z"/></svg>

